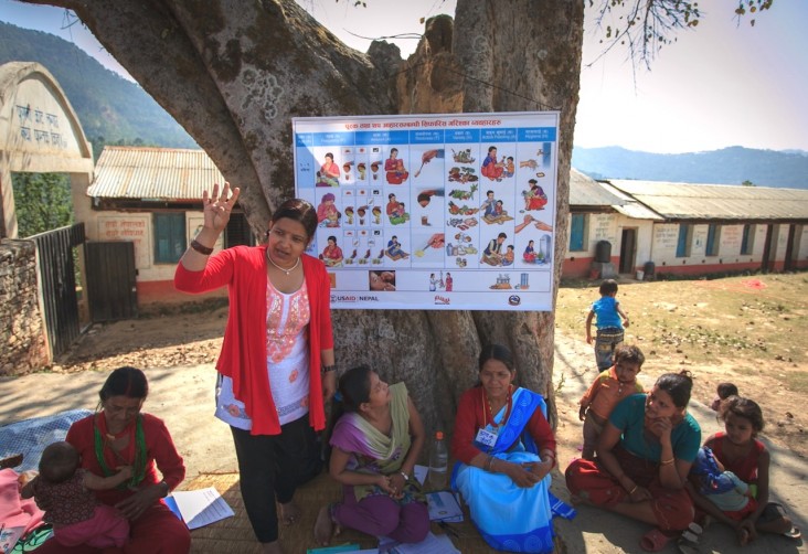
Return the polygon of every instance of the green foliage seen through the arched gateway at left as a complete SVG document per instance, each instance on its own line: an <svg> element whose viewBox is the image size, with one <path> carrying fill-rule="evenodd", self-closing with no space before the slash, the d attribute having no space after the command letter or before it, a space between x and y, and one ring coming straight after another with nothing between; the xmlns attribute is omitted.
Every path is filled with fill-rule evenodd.
<svg viewBox="0 0 808 554"><path fill-rule="evenodd" d="M24 238L73 223L70 177L12 173L18 234Z"/></svg>

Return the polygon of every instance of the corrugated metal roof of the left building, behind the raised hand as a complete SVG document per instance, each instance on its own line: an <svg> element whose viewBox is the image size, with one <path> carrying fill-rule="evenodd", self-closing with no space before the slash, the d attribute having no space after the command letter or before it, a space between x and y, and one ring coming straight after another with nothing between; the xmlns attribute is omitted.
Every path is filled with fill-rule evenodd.
<svg viewBox="0 0 808 554"><path fill-rule="evenodd" d="M93 198L199 200L224 177L204 150L104 147L87 189Z"/></svg>

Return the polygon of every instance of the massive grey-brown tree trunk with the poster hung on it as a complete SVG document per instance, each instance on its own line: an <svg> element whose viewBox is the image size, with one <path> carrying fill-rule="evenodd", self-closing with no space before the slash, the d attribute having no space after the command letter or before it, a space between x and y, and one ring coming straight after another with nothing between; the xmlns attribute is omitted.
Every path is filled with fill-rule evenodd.
<svg viewBox="0 0 808 554"><path fill-rule="evenodd" d="M70 8L204 148L261 232L294 192L294 116L559 110L557 288L577 105L581 0L458 0L417 52L345 47L291 0L28 0ZM370 0L373 1L373 0ZM358 8L361 9L361 8ZM338 363L405 381L428 429L450 428L483 343L508 344L554 415L552 312L334 313Z"/></svg>

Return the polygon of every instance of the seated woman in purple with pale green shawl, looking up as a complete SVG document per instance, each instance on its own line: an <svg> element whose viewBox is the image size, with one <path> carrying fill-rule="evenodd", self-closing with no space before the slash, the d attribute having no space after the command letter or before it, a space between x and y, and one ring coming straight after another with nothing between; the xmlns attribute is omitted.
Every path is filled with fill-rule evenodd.
<svg viewBox="0 0 808 554"><path fill-rule="evenodd" d="M328 544L334 528L402 543L423 541L429 513L413 468L425 435L406 385L389 386L360 366L342 375L339 390L344 414L334 417L329 472L343 484L343 499L320 509L318 543Z"/></svg>

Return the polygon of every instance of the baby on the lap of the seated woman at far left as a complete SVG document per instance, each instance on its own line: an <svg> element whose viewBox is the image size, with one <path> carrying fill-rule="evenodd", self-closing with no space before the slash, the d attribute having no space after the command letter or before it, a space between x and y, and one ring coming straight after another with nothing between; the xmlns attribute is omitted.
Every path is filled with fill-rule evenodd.
<svg viewBox="0 0 808 554"><path fill-rule="evenodd" d="M98 477L78 464L78 452L70 443L49 445L42 452L40 475L20 496L34 498L62 546L120 548L129 537L129 522L115 508L98 502L93 491L113 489L130 479L131 466L117 468L110 477Z"/></svg>

